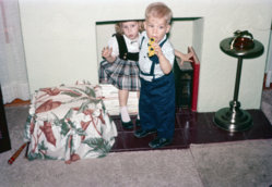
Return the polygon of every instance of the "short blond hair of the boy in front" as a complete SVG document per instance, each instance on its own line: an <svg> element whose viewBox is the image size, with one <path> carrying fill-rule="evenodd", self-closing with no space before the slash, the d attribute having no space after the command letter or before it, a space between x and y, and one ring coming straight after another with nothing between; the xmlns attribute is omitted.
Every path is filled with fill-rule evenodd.
<svg viewBox="0 0 272 187"><path fill-rule="evenodd" d="M145 10L145 20L149 20L150 16L154 17L165 17L166 23L170 24L172 21L172 10L163 2L153 2Z"/></svg>

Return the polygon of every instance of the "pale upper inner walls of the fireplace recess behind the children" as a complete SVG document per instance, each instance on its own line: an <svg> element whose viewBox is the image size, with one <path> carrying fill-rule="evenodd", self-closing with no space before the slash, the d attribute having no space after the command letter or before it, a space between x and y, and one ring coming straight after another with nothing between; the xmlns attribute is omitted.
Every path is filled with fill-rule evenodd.
<svg viewBox="0 0 272 187"><path fill-rule="evenodd" d="M186 53L188 47L193 47L201 62L203 17L174 17L169 32L169 40L174 48ZM115 24L126 20L96 22L96 52L97 63L102 61L102 49L107 46L115 34ZM143 21L143 20L139 20Z"/></svg>

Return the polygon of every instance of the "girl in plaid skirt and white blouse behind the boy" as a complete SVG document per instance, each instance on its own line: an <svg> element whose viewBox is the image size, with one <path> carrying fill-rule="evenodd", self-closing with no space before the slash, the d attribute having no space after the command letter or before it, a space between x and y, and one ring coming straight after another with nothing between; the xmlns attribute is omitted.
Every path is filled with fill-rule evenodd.
<svg viewBox="0 0 272 187"><path fill-rule="evenodd" d="M126 21L116 24L116 34L109 39L108 47L102 51L99 83L108 83L118 88L121 123L131 129L133 124L129 116L127 103L129 91L140 90L139 79L139 33L142 23ZM140 125L139 115L137 125Z"/></svg>

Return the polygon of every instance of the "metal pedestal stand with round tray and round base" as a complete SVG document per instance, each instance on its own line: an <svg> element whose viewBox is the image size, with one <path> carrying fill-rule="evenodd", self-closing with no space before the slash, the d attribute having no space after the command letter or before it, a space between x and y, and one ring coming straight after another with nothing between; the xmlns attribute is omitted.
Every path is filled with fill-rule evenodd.
<svg viewBox="0 0 272 187"><path fill-rule="evenodd" d="M243 132L249 129L252 125L251 115L247 111L240 109L240 102L238 101L243 59L251 59L261 55L263 46L258 40L253 40L253 48L248 50L236 49L230 47L232 40L233 38L222 40L220 48L224 53L238 58L234 98L229 102L229 108L220 109L215 113L214 123L220 128L228 132Z"/></svg>

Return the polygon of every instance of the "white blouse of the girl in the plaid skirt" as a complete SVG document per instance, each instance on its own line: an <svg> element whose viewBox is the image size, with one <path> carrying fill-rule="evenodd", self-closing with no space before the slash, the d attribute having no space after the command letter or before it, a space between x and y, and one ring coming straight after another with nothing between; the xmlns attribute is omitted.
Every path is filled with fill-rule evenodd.
<svg viewBox="0 0 272 187"><path fill-rule="evenodd" d="M140 35L140 34L139 34ZM131 40L129 39L126 35L122 35L128 48L129 52L139 52L139 42L138 39ZM115 36L113 36L109 41L108 41L108 47L113 48L111 55L118 57L119 55L119 47L118 47L118 41Z"/></svg>

